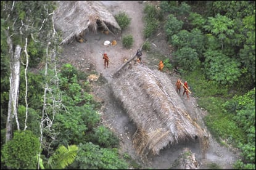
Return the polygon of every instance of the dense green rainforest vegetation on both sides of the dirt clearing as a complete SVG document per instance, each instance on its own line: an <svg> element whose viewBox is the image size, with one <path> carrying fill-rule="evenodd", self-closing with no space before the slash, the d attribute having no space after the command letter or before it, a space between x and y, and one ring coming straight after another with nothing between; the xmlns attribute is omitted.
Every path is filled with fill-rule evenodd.
<svg viewBox="0 0 256 170"><path fill-rule="evenodd" d="M1 1L1 169L128 169L87 73L57 65L54 9ZM162 1L144 12L145 38L162 26L174 49L164 63L180 67L213 136L239 148L234 168L255 169L255 1Z"/></svg>

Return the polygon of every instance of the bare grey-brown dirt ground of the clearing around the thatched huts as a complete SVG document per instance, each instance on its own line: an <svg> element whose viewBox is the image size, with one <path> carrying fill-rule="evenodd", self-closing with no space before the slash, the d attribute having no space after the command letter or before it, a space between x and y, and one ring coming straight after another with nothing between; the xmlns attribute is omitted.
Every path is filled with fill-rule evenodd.
<svg viewBox="0 0 256 170"><path fill-rule="evenodd" d="M64 45L64 51L60 59L61 63L71 63L81 71L93 71L98 74L102 73L105 78L105 83L91 83L93 87L93 95L95 99L103 103L101 108L102 123L108 126L112 131L117 134L121 139L120 153L128 153L131 158L141 164L142 168L152 169L169 169L173 161L178 158L184 147L191 149L192 153L196 154L197 161L199 162L199 169L209 169L210 166L217 164L221 169L233 169L231 164L237 160L237 152L233 148L226 148L218 144L202 121L202 118L207 115L207 111L201 109L197 105L197 100L190 95L188 100L186 95L184 97L180 95L184 105L186 106L191 118L197 120L202 128L206 129L209 133L209 148L205 153L205 158L202 156L200 150L200 144L197 142L185 142L183 144L168 146L163 148L159 155L149 155L147 160L142 160L136 155L136 151L131 141L131 136L136 131L135 124L130 121L128 115L120 107L120 103L114 99L110 92L110 83L113 81L112 75L123 64L125 59L130 59L141 47L145 41L143 38L143 9L148 1L102 1L102 3L112 12L113 15L118 12L125 12L131 18L131 24L122 34L114 36L113 34L102 33L86 33L85 43L79 43L73 41L70 44ZM155 2L155 1L151 1ZM133 36L133 47L131 49L125 49L122 47L122 36L131 34ZM104 46L104 41L117 41L116 46ZM165 39L165 35L162 32L158 32L153 39L149 39L151 42L152 51L161 52L162 55L171 57L170 48ZM106 52L110 58L109 68L104 68L104 60L102 54ZM157 59L149 59L147 52L142 51L142 62L145 66L151 69L157 69L154 65L159 62ZM163 74L167 74L163 72ZM177 80L177 76L170 76L173 86ZM181 78L182 79L182 78ZM183 81L186 81L183 79ZM189 82L188 82L189 84Z"/></svg>

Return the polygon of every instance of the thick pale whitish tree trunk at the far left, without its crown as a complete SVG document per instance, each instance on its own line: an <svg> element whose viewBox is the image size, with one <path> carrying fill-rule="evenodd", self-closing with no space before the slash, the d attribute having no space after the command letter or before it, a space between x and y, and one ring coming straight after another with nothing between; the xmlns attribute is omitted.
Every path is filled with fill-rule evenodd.
<svg viewBox="0 0 256 170"><path fill-rule="evenodd" d="M15 52L13 52L12 41L9 36L7 36L7 44L9 45L11 72L8 115L6 121L6 142L12 139L14 118L16 119L17 129L20 130L20 125L17 116L17 108L20 84L20 51L22 49L19 45L17 45L15 47Z"/></svg>

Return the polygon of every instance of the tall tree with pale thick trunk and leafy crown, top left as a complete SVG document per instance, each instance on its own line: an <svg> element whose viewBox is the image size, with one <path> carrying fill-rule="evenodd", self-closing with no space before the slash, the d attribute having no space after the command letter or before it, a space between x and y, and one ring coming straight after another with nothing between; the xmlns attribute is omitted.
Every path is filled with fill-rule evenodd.
<svg viewBox="0 0 256 170"><path fill-rule="evenodd" d="M10 58L10 94L9 108L6 122L6 142L12 138L14 118L17 129L17 116L20 62L25 49L26 60L32 57L30 49L44 49L49 44L52 31L52 15L54 2L52 1L1 1L1 31L4 30L9 47ZM51 43L50 43L51 44ZM28 45L28 46L27 46ZM36 47L35 47L36 46ZM36 53L36 51L34 51ZM28 61L25 62L28 65ZM26 66L27 68L28 66ZM27 87L27 86L26 86Z"/></svg>

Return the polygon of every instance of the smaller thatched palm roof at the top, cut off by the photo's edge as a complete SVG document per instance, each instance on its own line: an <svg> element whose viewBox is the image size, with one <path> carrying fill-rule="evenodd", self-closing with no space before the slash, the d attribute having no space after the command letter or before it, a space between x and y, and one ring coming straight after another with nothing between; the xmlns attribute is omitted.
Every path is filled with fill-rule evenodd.
<svg viewBox="0 0 256 170"><path fill-rule="evenodd" d="M57 6L54 25L62 31L61 44L67 44L88 28L97 31L99 25L105 30L121 30L115 17L101 1L57 1Z"/></svg>

